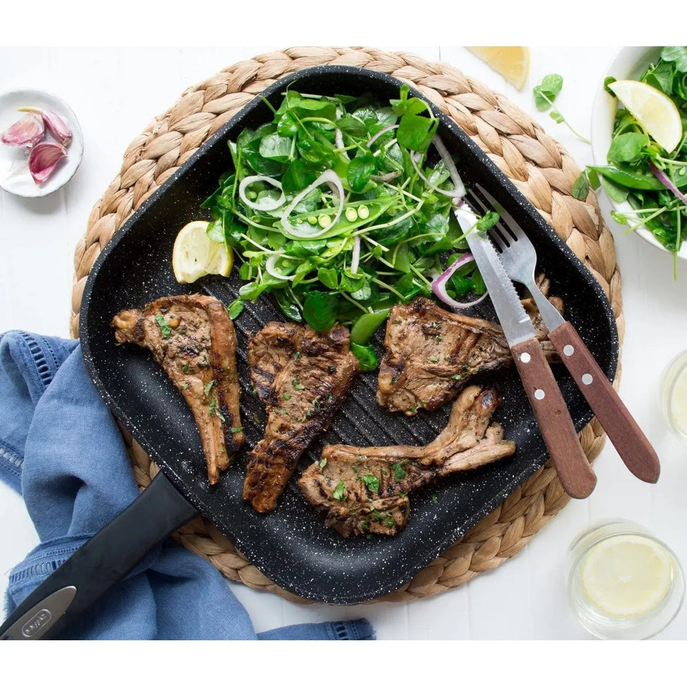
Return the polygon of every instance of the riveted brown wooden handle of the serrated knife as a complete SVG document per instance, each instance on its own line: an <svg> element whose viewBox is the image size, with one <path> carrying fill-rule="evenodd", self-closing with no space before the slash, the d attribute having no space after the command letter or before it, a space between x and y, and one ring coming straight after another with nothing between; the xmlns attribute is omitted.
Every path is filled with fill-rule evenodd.
<svg viewBox="0 0 687 687"><path fill-rule="evenodd" d="M574 499L586 498L594 491L596 475L582 450L563 394L539 341L529 339L516 343L510 350L563 488Z"/></svg>

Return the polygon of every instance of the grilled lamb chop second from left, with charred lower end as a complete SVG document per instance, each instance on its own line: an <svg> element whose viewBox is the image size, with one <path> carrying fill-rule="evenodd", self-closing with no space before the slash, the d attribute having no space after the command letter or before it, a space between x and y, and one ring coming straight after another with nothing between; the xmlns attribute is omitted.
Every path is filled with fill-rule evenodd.
<svg viewBox="0 0 687 687"><path fill-rule="evenodd" d="M345 327L320 333L286 322L268 322L250 339L248 361L267 425L249 453L243 498L268 513L303 451L341 407L359 363Z"/></svg>

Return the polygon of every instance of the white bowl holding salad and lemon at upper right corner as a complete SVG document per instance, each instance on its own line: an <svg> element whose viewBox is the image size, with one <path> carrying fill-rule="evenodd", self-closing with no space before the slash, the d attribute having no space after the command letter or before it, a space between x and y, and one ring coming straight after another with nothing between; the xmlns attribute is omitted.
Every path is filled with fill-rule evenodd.
<svg viewBox="0 0 687 687"><path fill-rule="evenodd" d="M605 71L606 76L614 76L616 79L638 79L651 63L655 63L660 57L662 47L625 47L613 59ZM618 100L607 93L601 83L598 87L594 106L592 107L592 154L596 165L607 165L606 154L611 145L613 134L613 119L618 109ZM613 201L611 201L613 203ZM618 212L631 213L633 208L627 202L613 203ZM638 227L634 234L638 234L651 245L660 248L666 253L671 252L664 248L649 229ZM687 259L687 244L683 244L679 258Z"/></svg>

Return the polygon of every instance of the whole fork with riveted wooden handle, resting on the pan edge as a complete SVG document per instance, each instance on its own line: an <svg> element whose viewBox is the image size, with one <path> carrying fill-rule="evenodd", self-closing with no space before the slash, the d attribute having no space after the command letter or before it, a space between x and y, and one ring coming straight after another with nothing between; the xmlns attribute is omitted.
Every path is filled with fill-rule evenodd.
<svg viewBox="0 0 687 687"><path fill-rule="evenodd" d="M482 186L477 185L475 188L478 193L475 190L469 192L471 201L484 212L495 210L499 213L500 220L488 235L499 251L499 258L508 277L514 282L524 284L530 291L549 330L549 340L629 471L644 482L656 482L660 474L660 463L649 440L620 400L620 396L572 324L563 319L561 313L537 286L534 279L537 252L532 242L513 216Z"/></svg>

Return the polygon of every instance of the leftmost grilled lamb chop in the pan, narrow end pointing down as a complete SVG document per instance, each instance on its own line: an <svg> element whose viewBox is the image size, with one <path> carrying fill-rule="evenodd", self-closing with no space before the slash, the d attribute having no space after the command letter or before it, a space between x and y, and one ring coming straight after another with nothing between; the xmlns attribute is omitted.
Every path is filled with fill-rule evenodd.
<svg viewBox="0 0 687 687"><path fill-rule="evenodd" d="M207 480L216 484L244 439L236 334L225 306L209 296L169 296L117 313L112 326L120 343L150 349L183 394L201 433Z"/></svg>

